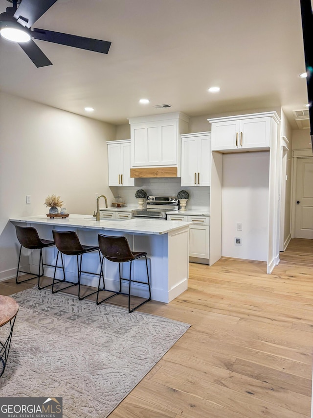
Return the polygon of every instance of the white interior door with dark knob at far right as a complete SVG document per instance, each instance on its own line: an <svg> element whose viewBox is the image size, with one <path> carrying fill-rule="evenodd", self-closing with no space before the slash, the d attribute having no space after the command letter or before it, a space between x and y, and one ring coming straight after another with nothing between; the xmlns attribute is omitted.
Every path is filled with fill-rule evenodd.
<svg viewBox="0 0 313 418"><path fill-rule="evenodd" d="M295 237L313 239L313 158L298 158Z"/></svg>

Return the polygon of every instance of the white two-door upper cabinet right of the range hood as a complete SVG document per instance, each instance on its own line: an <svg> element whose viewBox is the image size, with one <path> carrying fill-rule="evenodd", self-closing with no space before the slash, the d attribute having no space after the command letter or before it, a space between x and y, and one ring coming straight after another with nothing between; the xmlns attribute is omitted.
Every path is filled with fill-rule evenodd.
<svg viewBox="0 0 313 418"><path fill-rule="evenodd" d="M211 132L181 135L181 186L211 185Z"/></svg>

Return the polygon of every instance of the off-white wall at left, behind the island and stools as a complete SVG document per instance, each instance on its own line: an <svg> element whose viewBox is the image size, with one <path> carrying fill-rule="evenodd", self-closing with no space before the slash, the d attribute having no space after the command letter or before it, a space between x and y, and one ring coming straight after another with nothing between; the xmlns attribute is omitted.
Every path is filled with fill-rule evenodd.
<svg viewBox="0 0 313 418"><path fill-rule="evenodd" d="M106 145L112 138L111 124L0 93L0 279L17 266L9 218L47 213L51 194L69 213L92 214L96 193L112 199Z"/></svg>

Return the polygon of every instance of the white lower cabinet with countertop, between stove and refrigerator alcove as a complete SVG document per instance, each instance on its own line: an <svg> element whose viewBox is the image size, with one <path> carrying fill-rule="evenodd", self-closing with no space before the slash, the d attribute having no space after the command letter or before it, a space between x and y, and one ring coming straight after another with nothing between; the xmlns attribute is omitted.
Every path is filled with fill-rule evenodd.
<svg viewBox="0 0 313 418"><path fill-rule="evenodd" d="M210 217L198 215L167 215L169 221L192 222L189 226L189 261L209 264Z"/></svg>

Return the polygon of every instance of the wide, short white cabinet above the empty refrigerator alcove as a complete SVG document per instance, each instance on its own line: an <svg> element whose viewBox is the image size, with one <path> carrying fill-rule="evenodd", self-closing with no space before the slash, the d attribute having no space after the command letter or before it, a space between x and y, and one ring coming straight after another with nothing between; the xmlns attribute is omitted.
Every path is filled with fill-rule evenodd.
<svg viewBox="0 0 313 418"><path fill-rule="evenodd" d="M279 123L276 112L255 113L208 120L212 151L269 149L272 125Z"/></svg>

